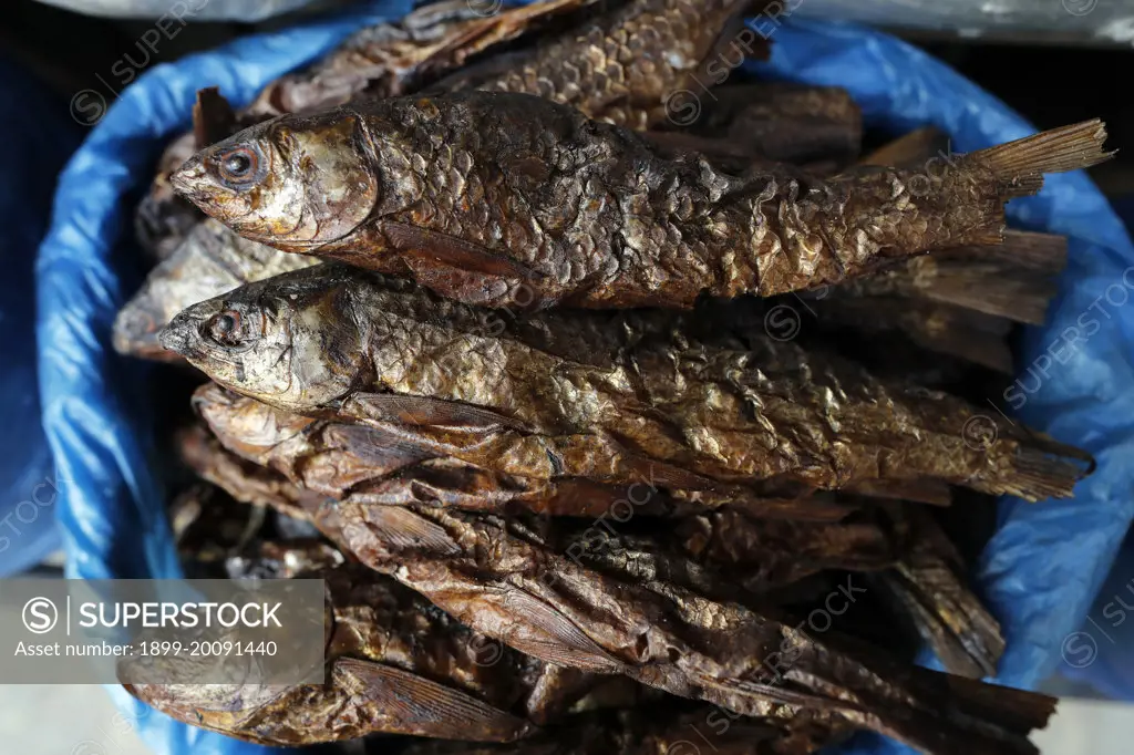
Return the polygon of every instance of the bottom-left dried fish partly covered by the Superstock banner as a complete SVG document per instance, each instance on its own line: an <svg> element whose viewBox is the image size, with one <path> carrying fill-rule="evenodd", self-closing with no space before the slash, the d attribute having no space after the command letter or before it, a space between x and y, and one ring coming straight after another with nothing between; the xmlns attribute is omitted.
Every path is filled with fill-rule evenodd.
<svg viewBox="0 0 1134 755"><path fill-rule="evenodd" d="M235 685L126 689L179 721L266 745L383 731L511 741L562 715L602 681L493 642L358 565L298 576L327 580L325 684L251 701L240 697L246 686Z"/></svg>

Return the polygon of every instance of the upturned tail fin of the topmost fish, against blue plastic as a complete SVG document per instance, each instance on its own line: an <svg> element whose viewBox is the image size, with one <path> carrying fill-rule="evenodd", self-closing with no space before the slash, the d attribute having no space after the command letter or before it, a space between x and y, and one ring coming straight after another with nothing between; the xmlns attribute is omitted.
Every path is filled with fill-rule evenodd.
<svg viewBox="0 0 1134 755"><path fill-rule="evenodd" d="M972 152L964 160L990 168L1002 196L1012 198L1039 192L1043 173L1080 170L1109 160L1115 152L1102 151L1106 141L1107 127L1095 118Z"/></svg>

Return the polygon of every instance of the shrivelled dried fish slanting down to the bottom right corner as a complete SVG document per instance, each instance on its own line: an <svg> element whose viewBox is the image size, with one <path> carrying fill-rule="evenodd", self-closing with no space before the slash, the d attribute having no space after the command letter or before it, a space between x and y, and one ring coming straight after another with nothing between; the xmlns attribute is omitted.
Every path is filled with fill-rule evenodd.
<svg viewBox="0 0 1134 755"><path fill-rule="evenodd" d="M659 578L619 579L494 516L342 506L367 566L477 631L551 663L620 673L734 713L868 728L930 755L1036 753L1055 701L906 667L776 609L708 600ZM845 611L853 578L835 593ZM813 635L813 636L812 636Z"/></svg>

